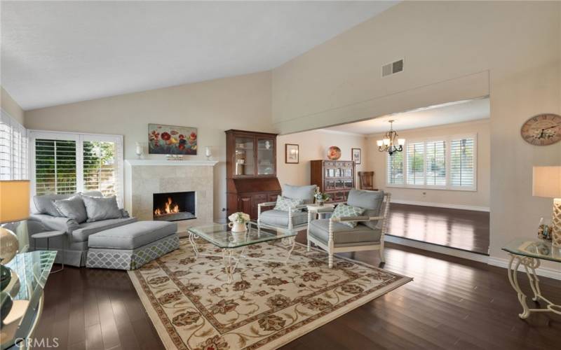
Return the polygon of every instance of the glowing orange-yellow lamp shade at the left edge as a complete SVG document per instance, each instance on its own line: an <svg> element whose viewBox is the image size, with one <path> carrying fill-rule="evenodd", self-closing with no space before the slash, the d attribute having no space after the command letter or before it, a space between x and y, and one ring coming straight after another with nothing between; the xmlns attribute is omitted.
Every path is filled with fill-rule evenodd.
<svg viewBox="0 0 561 350"><path fill-rule="evenodd" d="M29 218L29 180L0 181L0 223Z"/></svg>

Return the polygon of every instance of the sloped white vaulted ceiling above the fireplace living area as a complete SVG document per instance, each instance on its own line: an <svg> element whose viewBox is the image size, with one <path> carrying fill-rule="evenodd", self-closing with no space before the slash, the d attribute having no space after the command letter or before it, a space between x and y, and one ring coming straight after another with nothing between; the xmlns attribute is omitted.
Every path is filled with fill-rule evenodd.
<svg viewBox="0 0 561 350"><path fill-rule="evenodd" d="M2 1L23 109L272 69L397 1Z"/></svg>

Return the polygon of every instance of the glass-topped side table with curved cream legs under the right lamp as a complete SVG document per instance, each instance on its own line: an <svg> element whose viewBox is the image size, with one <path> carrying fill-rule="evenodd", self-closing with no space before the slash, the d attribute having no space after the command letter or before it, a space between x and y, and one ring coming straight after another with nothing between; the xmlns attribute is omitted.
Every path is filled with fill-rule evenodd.
<svg viewBox="0 0 561 350"><path fill-rule="evenodd" d="M553 302L550 302L550 300L541 295L539 279L536 275L536 269L539 267L542 259L561 262L561 248L552 246L551 242L539 239L516 239L504 246L503 251L511 255L511 259L508 262L508 280L511 281L511 285L518 293L518 301L522 305L522 314L518 314L518 316L520 318L527 318L532 312L554 312L561 315L561 305L553 304ZM546 302L545 308L530 309L526 304L527 296L520 289L518 274L516 273L520 265L524 267L530 287L534 293L532 300L534 302L543 300L543 302Z"/></svg>

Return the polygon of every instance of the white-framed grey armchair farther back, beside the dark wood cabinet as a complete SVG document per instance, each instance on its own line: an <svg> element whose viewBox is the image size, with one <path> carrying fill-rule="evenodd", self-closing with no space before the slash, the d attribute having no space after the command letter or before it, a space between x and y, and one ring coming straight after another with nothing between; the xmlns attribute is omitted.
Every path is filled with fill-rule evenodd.
<svg viewBox="0 0 561 350"><path fill-rule="evenodd" d="M313 195L316 185L291 186L283 185L282 196L295 200L299 204L280 210L276 207L278 202L264 202L257 204L257 225L269 225L288 230L306 230L308 213L304 210L308 204L313 204ZM269 209L267 209L269 207ZM275 207L271 209L271 207ZM267 210L264 210L267 209Z"/></svg>

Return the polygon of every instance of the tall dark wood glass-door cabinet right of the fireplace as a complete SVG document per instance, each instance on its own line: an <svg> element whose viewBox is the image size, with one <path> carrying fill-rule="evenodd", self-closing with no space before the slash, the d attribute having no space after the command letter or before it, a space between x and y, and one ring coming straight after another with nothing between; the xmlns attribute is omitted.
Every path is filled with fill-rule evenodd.
<svg viewBox="0 0 561 350"><path fill-rule="evenodd" d="M226 132L227 215L243 211L257 220L257 204L280 195L276 137L267 132Z"/></svg>

